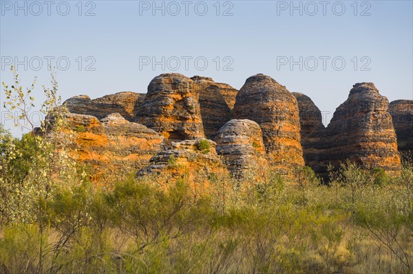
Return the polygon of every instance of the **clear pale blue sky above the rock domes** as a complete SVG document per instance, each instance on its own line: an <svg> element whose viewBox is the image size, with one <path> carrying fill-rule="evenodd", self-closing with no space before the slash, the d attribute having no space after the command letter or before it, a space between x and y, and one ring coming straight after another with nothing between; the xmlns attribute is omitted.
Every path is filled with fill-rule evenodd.
<svg viewBox="0 0 413 274"><path fill-rule="evenodd" d="M413 99L412 1L326 1L324 5L294 1L298 9L290 1L216 2L157 1L161 7L157 10L153 1L82 1L81 5L52 1L50 6L44 1L19 1L23 7L19 8L15 1L1 0L0 80L12 81L7 64L10 57L17 58L26 65L18 67L23 84L28 86L38 76L34 94L40 105L41 84L48 84L50 78L45 56L52 56L54 66L61 58L61 68L70 60L70 67L57 73L63 100L79 94L97 98L118 91L146 93L153 77L176 68L173 72L209 76L237 89L248 76L265 73L288 90L309 95L321 111L331 112L328 119L356 82L374 82L390 101ZM87 11L94 15L85 16ZM225 12L229 16L223 16ZM160 62L165 56L165 70L161 65L154 70L143 65L145 56ZM298 62L292 69L282 65L290 58ZM326 58L325 70L322 58ZM203 60L208 65L201 71ZM341 60L346 65L339 70ZM95 70L87 71L87 65ZM232 70L224 70L224 65ZM10 122L5 124L12 128ZM13 129L13 133L21 131Z"/></svg>

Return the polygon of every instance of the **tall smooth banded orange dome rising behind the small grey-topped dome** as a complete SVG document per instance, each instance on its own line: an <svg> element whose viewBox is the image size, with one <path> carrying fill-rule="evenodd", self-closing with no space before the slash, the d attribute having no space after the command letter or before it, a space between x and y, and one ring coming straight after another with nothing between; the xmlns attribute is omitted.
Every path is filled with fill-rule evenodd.
<svg viewBox="0 0 413 274"><path fill-rule="evenodd" d="M297 100L273 78L264 74L248 78L237 94L234 117L260 125L266 152L280 172L304 165Z"/></svg>

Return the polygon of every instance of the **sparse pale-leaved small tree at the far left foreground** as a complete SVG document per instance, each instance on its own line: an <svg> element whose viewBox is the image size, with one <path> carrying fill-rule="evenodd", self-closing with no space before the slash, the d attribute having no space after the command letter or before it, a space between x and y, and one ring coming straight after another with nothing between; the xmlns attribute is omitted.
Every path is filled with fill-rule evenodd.
<svg viewBox="0 0 413 274"><path fill-rule="evenodd" d="M40 128L36 128L32 120L30 110L34 107L34 97L31 95L36 84L36 78L31 87L24 90L21 87L19 74L14 66L11 67L14 75L14 84L9 87L3 82L6 102L4 107L10 112L17 113L12 117L15 126L21 126L29 130L20 141L14 141L14 145L7 150L2 161L7 162L8 170L2 174L3 187L13 190L11 196L19 199L19 207L12 207L9 215L14 218L24 218L26 222L34 220L39 228L39 262L37 272L43 273L43 257L45 255L45 243L43 234L47 229L47 201L59 183L74 182L76 169L74 161L70 160L65 151L64 141L60 137L59 130L64 125L65 111L59 108L61 99L57 96L58 84L52 72L52 89L43 86L45 102L41 106L41 113L46 119ZM3 143L3 142L2 142ZM19 146L17 146L17 144ZM23 170L15 167L24 166ZM10 171L21 174L21 185L16 185ZM33 212L36 212L33 214Z"/></svg>

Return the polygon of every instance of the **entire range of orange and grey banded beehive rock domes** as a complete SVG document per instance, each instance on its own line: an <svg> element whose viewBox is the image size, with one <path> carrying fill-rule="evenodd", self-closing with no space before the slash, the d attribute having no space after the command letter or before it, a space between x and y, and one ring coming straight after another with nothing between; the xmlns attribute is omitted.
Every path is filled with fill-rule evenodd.
<svg viewBox="0 0 413 274"><path fill-rule="evenodd" d="M291 176L304 162L324 176L329 163L338 168L347 160L393 171L401 167L398 144L413 150L413 101L389 108L367 82L354 84L326 128L308 96L264 74L237 91L211 78L165 73L147 94L81 95L64 105L70 126L62 134L73 137L72 157L97 176L124 166L140 169L139 176L223 168L242 178L257 166Z"/></svg>

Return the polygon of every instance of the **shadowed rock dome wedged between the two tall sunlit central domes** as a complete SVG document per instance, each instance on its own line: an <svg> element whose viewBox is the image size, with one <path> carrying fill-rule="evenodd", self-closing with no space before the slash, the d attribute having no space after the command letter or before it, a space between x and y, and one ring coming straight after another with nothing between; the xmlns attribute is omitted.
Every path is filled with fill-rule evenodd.
<svg viewBox="0 0 413 274"><path fill-rule="evenodd" d="M229 84L216 83L208 77L193 76L191 79L198 89L205 135L212 139L231 119L237 90Z"/></svg>

